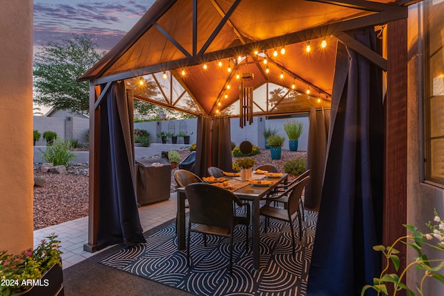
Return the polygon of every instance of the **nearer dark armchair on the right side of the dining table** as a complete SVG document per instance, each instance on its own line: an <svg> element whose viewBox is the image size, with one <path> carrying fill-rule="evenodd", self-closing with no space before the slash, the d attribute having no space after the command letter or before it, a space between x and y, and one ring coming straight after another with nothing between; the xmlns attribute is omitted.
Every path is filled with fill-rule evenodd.
<svg viewBox="0 0 444 296"><path fill-rule="evenodd" d="M280 193L279 195L276 195L275 198L280 198L283 195L288 196L287 209L271 207L270 204L265 204L264 207L262 207L259 210L259 215L265 216L265 232L268 227L270 218L287 221L288 223L290 223L291 241L293 245L293 256L295 256L295 251L296 251L294 232L293 232L293 222L294 220L296 220L296 218L298 218L299 238L300 240L302 240L302 220L300 218L299 200L300 200L300 195L302 194L302 190L304 189L305 184L307 183L309 178L310 176L305 177L304 179L300 180L299 182L291 186L286 191ZM267 199L273 200L273 198L267 198Z"/></svg>

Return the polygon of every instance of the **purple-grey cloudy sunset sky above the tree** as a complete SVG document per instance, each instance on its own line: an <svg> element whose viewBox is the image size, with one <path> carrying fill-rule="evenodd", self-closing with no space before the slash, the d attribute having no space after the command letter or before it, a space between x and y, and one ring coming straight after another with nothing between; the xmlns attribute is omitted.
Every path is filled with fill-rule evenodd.
<svg viewBox="0 0 444 296"><path fill-rule="evenodd" d="M89 33L100 49L110 50L154 1L34 0L34 45Z"/></svg>

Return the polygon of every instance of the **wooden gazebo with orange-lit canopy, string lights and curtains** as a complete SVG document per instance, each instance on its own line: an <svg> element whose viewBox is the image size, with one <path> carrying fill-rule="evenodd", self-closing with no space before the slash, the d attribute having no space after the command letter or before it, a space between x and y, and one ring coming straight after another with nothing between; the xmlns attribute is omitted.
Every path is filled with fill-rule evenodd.
<svg viewBox="0 0 444 296"><path fill-rule="evenodd" d="M130 193L134 191L133 98L198 116L196 173L210 163L223 166L230 157L224 154L230 143L225 132L230 127L228 116L239 116L239 123L245 125L255 116L310 113L308 153L319 150L316 153L324 155L318 161L317 155L308 159L318 180L313 189L318 192L313 194L330 200L324 207L332 208L323 218L321 204L310 274L313 293L338 263L321 266L321 258L329 252L339 257L348 252L332 247L333 241L330 251L318 247L316 253L316 244L330 239L321 230L325 220L337 223L333 227L344 227L366 216L359 227L375 244L400 236L406 220L407 177L402 177L406 168L399 157L391 156L402 154L407 141L399 131L407 125L402 110L407 93L408 3L156 1L121 42L78 78L90 83L85 250L94 252L98 245L121 241L131 245L142 239L135 193ZM131 91L123 83L130 79L151 80L159 95L146 97L143 91ZM275 89L282 91L278 100L270 95ZM327 110L331 121L324 116ZM393 183L399 186L387 185ZM324 198L325 192L332 198ZM127 202L122 206L110 196L117 200L124 196ZM338 204L352 209L344 215ZM109 229L103 230L103 225ZM354 241L350 247L357 245ZM356 252L369 254L364 248ZM359 278L355 285L363 284L379 268L369 262L374 259L370 255L359 262L364 270L348 270L352 263L339 264L332 281L346 279L352 272ZM340 283L330 288L341 290L344 287L334 286Z"/></svg>

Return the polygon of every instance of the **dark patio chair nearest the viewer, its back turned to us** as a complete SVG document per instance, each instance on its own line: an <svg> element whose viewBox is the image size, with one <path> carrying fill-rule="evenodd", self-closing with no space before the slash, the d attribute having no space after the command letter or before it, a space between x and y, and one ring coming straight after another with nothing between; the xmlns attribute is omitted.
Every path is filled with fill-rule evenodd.
<svg viewBox="0 0 444 296"><path fill-rule="evenodd" d="M248 225L250 204L241 202L234 193L211 184L190 184L185 187L189 202L189 223L187 240L187 265L191 232L203 234L205 246L207 234L230 238L230 275L232 275L233 229L238 224L246 225L246 247L248 248ZM246 216L236 216L236 205L247 207Z"/></svg>

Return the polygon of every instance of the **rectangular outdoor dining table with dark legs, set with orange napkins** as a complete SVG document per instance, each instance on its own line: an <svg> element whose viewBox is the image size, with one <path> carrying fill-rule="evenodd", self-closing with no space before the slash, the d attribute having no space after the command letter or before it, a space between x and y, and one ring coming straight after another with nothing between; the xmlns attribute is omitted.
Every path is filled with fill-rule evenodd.
<svg viewBox="0 0 444 296"><path fill-rule="evenodd" d="M260 177L265 177L264 175L253 174L253 179L259 179ZM259 269L259 202L268 193L273 191L275 186L287 180L287 174L282 174L281 177L270 178L268 180L273 180L273 184L269 186L256 186L248 181L239 181L237 178L227 177L228 182L233 182L239 184L239 182L244 182L244 186L233 191L235 195L241 200L248 200L253 202L252 204L252 249L253 249L253 267L257 270ZM177 202L178 202L178 213L177 213L177 237L178 237L178 250L185 250L185 200L187 199L185 195L185 187L180 187L177 189ZM211 198L211 197L209 197Z"/></svg>

